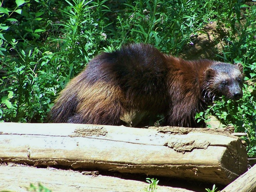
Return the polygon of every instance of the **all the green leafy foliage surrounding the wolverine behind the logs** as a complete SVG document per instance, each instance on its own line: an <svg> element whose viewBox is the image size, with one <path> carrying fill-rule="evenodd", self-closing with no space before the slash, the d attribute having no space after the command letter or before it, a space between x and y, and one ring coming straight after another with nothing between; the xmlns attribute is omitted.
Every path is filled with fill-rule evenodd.
<svg viewBox="0 0 256 192"><path fill-rule="evenodd" d="M238 102L223 98L197 118L215 115L247 133L248 154L255 156L255 3L3 0L0 20L0 121L13 122L47 122L60 90L102 50L144 42L178 55L217 21L218 31L226 33L219 60L243 64L244 96Z"/></svg>

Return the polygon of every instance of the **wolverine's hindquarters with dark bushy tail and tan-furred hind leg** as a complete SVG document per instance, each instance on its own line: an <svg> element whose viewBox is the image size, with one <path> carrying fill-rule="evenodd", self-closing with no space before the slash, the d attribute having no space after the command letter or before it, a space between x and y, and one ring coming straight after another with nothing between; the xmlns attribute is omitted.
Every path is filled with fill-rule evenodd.
<svg viewBox="0 0 256 192"><path fill-rule="evenodd" d="M53 123L122 125L124 93L115 83L70 81L52 107L48 119Z"/></svg>

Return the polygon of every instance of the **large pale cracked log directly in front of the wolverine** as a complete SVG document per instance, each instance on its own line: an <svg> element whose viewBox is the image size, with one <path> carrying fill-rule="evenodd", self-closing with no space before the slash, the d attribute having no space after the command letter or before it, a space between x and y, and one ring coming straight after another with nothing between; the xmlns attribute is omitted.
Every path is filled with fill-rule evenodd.
<svg viewBox="0 0 256 192"><path fill-rule="evenodd" d="M229 184L247 170L241 140L221 129L0 123L0 162Z"/></svg>

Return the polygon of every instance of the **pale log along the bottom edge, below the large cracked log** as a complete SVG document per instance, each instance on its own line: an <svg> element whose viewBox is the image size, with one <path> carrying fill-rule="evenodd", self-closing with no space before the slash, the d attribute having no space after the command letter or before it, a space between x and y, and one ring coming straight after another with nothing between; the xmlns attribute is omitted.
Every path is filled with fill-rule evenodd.
<svg viewBox="0 0 256 192"><path fill-rule="evenodd" d="M9 167L0 166L0 191L27 192L30 183L43 186L54 192L63 191L144 191L146 182L121 179L103 175L83 175L78 171L45 169L36 167ZM161 182L161 181L160 181ZM157 191L166 192L193 192L176 187L158 186Z"/></svg>

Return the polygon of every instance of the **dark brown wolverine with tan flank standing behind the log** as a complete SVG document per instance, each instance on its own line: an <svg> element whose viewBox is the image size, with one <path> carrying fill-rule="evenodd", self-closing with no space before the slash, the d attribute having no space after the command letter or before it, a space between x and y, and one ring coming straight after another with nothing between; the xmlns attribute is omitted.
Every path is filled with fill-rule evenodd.
<svg viewBox="0 0 256 192"><path fill-rule="evenodd" d="M208 59L186 61L149 44L102 52L60 92L49 120L142 127L199 127L196 113L221 96L242 97L243 66Z"/></svg>

